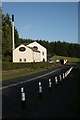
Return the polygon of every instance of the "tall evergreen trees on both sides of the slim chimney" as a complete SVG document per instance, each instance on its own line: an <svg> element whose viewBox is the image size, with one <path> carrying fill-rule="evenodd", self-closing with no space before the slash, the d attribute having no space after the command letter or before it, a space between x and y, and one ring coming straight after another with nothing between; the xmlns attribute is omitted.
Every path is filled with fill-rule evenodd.
<svg viewBox="0 0 80 120"><path fill-rule="evenodd" d="M20 45L19 34L14 27L15 47ZM12 24L9 14L2 14L2 60L11 61L12 58Z"/></svg>

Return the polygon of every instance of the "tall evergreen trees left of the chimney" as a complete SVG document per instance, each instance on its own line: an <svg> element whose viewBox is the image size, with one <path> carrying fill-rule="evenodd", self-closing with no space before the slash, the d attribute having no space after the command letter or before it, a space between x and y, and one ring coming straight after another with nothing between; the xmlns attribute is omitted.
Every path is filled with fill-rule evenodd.
<svg viewBox="0 0 80 120"><path fill-rule="evenodd" d="M11 21L7 13L6 16L2 15L2 55L4 58L11 59Z"/></svg>

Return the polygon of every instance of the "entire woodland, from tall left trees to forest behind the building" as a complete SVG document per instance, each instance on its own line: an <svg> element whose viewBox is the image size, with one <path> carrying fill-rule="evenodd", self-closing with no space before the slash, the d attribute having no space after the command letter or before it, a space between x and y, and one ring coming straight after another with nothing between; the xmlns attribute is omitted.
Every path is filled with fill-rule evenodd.
<svg viewBox="0 0 80 120"><path fill-rule="evenodd" d="M31 43L34 40L19 38L18 30L15 27L15 47L22 43ZM36 40L47 48L48 55L60 55L67 57L80 57L80 44L67 42L49 42L46 40ZM2 59L3 61L12 61L12 24L10 15L2 14Z"/></svg>

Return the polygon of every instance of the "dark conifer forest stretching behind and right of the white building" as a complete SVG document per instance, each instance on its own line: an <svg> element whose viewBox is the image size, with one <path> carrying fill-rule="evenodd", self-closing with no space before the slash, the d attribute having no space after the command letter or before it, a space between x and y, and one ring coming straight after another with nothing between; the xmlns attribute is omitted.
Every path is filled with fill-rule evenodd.
<svg viewBox="0 0 80 120"><path fill-rule="evenodd" d="M31 43L34 40L20 38L20 43ZM48 42L45 40L36 40L39 44L47 48L48 55L59 55L66 57L80 57L80 44L67 42Z"/></svg>

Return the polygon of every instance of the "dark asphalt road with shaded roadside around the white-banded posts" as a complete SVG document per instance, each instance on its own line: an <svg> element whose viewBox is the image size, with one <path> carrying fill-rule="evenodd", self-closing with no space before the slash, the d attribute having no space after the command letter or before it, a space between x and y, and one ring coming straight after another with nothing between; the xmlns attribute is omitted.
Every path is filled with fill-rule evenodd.
<svg viewBox="0 0 80 120"><path fill-rule="evenodd" d="M59 75L73 67L71 73L60 82ZM55 85L55 76L58 85ZM49 90L48 80L52 89ZM58 70L47 70L3 82L2 118L80 118L80 70L77 65L66 65ZM42 83L42 97L38 84ZM25 107L22 108L21 87L25 92Z"/></svg>

